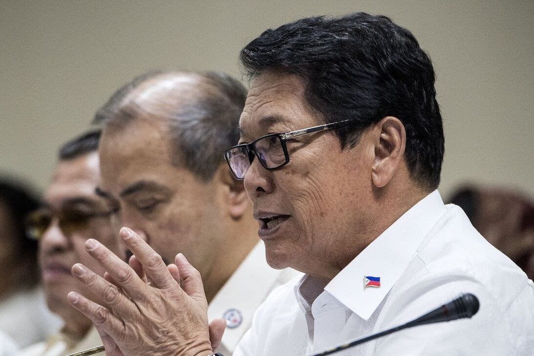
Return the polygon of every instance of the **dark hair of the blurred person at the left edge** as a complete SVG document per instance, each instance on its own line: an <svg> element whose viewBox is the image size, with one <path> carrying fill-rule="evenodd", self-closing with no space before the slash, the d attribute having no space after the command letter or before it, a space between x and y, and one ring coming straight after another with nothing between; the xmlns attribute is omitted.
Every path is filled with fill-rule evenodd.
<svg viewBox="0 0 534 356"><path fill-rule="evenodd" d="M5 207L7 216L13 222L14 231L11 238L14 240L16 256L12 256L20 267L18 288L30 288L39 280L37 266L37 241L26 236L26 216L41 206L41 202L34 193L18 181L3 178L0 180L0 205ZM6 228L6 226L2 226ZM13 273L13 271L4 271ZM6 292L6 291L4 291ZM11 290L10 292L14 292Z"/></svg>

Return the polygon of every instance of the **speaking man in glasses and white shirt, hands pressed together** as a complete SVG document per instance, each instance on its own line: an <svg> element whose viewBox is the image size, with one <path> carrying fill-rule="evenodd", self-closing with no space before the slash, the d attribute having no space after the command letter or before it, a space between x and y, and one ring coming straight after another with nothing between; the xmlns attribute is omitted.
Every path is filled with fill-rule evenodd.
<svg viewBox="0 0 534 356"><path fill-rule="evenodd" d="M274 290L234 355L315 353L461 293L480 300L473 319L339 354L530 354L532 281L436 190L444 138L435 75L410 31L365 13L307 18L265 31L241 61L253 82L240 144L225 157L244 180L269 264L306 274ZM155 282L89 240L125 294L109 309L69 294L106 335L108 354L213 353L220 335L209 333L198 272L183 255L165 266L129 229L121 238ZM109 288L85 271L94 292Z"/></svg>

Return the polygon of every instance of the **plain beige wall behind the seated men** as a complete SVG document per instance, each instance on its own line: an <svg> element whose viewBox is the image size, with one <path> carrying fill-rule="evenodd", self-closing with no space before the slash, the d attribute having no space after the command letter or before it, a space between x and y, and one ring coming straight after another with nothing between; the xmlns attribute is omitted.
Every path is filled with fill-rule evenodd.
<svg viewBox="0 0 534 356"><path fill-rule="evenodd" d="M366 11L433 59L444 117L441 192L461 182L534 196L534 1L0 1L0 172L38 189L58 146L149 69L223 70L267 28Z"/></svg>

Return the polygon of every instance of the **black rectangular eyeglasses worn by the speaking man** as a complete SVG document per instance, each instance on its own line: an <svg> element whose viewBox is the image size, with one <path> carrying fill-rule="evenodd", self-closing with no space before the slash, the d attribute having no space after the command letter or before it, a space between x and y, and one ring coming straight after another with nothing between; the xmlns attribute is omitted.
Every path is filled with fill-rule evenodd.
<svg viewBox="0 0 534 356"><path fill-rule="evenodd" d="M245 179L245 174L252 164L254 157L260 160L265 169L274 169L289 163L286 141L305 134L330 130L331 128L347 125L352 120L342 120L331 124L302 128L301 130L281 134L269 134L254 142L242 143L230 147L224 152L224 158L236 179Z"/></svg>

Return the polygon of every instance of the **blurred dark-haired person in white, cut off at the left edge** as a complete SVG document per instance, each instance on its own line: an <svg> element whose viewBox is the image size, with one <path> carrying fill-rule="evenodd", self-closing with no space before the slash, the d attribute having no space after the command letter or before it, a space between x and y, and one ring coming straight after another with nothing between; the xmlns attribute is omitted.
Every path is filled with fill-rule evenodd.
<svg viewBox="0 0 534 356"><path fill-rule="evenodd" d="M4 340L10 337L20 347L44 339L59 326L46 308L39 283L37 241L25 231L26 215L39 206L27 188L0 180L0 330Z"/></svg>

